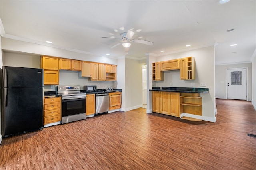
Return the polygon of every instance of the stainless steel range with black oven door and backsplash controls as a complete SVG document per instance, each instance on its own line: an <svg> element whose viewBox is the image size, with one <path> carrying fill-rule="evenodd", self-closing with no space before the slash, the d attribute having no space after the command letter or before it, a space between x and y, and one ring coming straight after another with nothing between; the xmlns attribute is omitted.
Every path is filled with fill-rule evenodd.
<svg viewBox="0 0 256 170"><path fill-rule="evenodd" d="M80 86L58 86L62 95L62 121L68 123L86 119L86 93L80 92Z"/></svg>

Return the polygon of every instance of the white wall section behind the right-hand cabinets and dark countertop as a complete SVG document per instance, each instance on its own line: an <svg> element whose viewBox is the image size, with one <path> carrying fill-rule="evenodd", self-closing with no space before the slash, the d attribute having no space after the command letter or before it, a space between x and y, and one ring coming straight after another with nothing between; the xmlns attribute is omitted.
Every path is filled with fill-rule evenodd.
<svg viewBox="0 0 256 170"><path fill-rule="evenodd" d="M156 57L156 61L166 61L185 57L195 58L195 80L180 80L180 71L165 71L164 81L154 81L154 87L198 87L209 88L209 93L200 93L202 96L203 120L216 121L215 117L215 56L214 46L193 49L175 54ZM152 65L152 63L149 63ZM151 67L152 70L152 67ZM172 86L170 86L172 82ZM190 86L194 82L195 86ZM152 81L150 83L153 83ZM200 87L200 83L206 83L206 87Z"/></svg>

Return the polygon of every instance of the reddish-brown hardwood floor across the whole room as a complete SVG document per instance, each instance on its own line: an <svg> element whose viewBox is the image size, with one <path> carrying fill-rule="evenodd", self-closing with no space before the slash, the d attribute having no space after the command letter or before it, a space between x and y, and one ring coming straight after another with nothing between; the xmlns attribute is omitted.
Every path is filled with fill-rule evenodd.
<svg viewBox="0 0 256 170"><path fill-rule="evenodd" d="M3 138L1 170L256 168L251 102L216 99L217 121L187 121L139 108Z"/></svg>

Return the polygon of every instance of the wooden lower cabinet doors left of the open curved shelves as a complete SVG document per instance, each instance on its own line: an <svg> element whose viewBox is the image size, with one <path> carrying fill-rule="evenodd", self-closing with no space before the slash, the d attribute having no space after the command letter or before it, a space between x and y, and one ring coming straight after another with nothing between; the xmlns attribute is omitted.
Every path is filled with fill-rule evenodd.
<svg viewBox="0 0 256 170"><path fill-rule="evenodd" d="M180 117L180 93L152 91L152 110L165 115Z"/></svg>

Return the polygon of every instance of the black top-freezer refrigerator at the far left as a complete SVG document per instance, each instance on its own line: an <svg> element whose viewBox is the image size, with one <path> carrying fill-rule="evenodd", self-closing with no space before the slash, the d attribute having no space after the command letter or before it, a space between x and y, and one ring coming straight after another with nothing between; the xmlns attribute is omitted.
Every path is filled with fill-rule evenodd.
<svg viewBox="0 0 256 170"><path fill-rule="evenodd" d="M1 134L3 137L42 129L43 69L2 66Z"/></svg>

